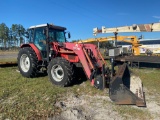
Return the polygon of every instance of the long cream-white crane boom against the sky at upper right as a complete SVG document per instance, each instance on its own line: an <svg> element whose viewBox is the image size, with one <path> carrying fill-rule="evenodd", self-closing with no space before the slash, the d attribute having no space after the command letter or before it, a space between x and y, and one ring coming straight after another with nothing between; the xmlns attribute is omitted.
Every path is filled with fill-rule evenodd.
<svg viewBox="0 0 160 120"><path fill-rule="evenodd" d="M102 26L102 29L93 28L93 34L98 33L118 33L118 32L157 32L160 31L160 23L150 23L150 24L133 24L132 26L122 26L106 28Z"/></svg>

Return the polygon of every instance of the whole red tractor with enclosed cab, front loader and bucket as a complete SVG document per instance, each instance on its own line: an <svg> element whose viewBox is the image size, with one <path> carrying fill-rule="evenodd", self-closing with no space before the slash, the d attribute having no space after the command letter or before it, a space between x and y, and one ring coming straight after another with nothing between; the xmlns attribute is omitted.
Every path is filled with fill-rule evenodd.
<svg viewBox="0 0 160 120"><path fill-rule="evenodd" d="M97 46L69 43L65 30L52 24L29 28L29 43L23 44L18 54L18 68L24 77L36 77L45 68L53 84L69 86L78 72L74 66L81 66L96 88L103 90L109 84L109 95L115 103L145 106L141 81L132 87L126 64L113 76Z"/></svg>

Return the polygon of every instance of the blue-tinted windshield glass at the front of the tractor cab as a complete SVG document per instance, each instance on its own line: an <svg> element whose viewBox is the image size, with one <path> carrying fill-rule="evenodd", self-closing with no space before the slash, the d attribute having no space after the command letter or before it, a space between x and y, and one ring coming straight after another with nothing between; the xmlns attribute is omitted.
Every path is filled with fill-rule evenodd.
<svg viewBox="0 0 160 120"><path fill-rule="evenodd" d="M49 41L50 42L65 42L64 31L49 29Z"/></svg>

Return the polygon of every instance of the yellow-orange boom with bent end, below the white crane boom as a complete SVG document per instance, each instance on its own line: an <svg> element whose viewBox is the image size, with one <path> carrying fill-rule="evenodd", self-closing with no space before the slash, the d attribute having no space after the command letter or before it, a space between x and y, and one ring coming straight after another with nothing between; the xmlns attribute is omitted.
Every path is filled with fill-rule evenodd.
<svg viewBox="0 0 160 120"><path fill-rule="evenodd" d="M122 41L132 44L132 53L134 55L140 55L139 40L136 36L111 36L111 37L101 37L101 38L90 38L86 40L80 40L77 43L90 43L90 42L107 42L107 41Z"/></svg>

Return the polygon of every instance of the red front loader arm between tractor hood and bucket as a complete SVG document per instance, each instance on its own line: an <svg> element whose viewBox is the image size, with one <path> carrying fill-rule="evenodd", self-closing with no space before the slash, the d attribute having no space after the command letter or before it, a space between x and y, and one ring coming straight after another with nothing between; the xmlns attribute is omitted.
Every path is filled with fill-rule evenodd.
<svg viewBox="0 0 160 120"><path fill-rule="evenodd" d="M83 66L84 72L87 78L91 81L91 85L97 87L98 89L105 88L105 79L103 71L103 66L106 64L104 58L97 46L93 44L75 44L75 43L65 43L65 48L73 51ZM97 79L97 76L99 80ZM95 83L101 83L97 84Z"/></svg>

